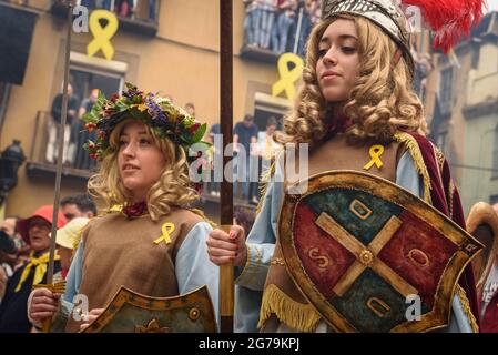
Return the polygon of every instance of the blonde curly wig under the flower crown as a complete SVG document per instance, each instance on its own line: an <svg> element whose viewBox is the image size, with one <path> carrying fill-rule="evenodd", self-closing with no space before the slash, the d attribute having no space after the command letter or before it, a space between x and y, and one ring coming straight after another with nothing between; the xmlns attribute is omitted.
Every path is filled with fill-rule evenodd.
<svg viewBox="0 0 498 355"><path fill-rule="evenodd" d="M118 164L120 135L126 122L130 120L124 120L112 131L110 152L102 160L100 172L91 176L88 183L90 194L102 199L108 210L114 205L125 206L132 203L131 191L123 185ZM185 151L167 138L159 138L149 125L144 126L166 160L161 178L152 185L146 197L151 219L156 221L159 216L169 214L172 207L187 207L199 199L199 194L190 185Z"/></svg>

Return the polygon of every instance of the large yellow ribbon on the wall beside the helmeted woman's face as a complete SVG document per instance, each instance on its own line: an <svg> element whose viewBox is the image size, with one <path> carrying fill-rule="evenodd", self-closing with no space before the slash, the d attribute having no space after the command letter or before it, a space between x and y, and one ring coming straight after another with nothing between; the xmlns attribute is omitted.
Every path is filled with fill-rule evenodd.
<svg viewBox="0 0 498 355"><path fill-rule="evenodd" d="M288 69L288 63L293 63L294 68ZM296 88L294 82L297 81L304 69L304 61L299 55L294 53L284 53L278 58L278 74L281 80L272 87L272 95L277 97L281 92L285 91L285 94L289 100L296 95Z"/></svg>

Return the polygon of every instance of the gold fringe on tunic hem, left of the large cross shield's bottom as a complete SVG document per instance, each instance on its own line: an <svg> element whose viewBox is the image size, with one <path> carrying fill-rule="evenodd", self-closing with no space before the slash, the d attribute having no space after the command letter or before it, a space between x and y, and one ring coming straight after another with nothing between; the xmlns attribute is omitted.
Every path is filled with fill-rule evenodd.
<svg viewBox="0 0 498 355"><path fill-rule="evenodd" d="M298 332L315 331L322 318L311 304L292 300L274 284L266 286L263 293L257 327L261 328L272 314Z"/></svg>

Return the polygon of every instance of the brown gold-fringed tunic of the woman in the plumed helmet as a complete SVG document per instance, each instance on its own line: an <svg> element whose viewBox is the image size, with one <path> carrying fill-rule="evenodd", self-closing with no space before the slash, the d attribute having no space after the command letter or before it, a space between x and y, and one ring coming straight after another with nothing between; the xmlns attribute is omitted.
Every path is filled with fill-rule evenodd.
<svg viewBox="0 0 498 355"><path fill-rule="evenodd" d="M347 138L345 134L337 134L332 140L324 142L311 152L308 176L328 170L356 170L395 182L396 166L405 151L404 145L398 142L380 144L384 146L384 152L379 156L383 166L377 168L374 164L366 171L363 168L372 160L369 154L370 146L379 143L373 140L357 140ZM268 288L268 286L271 287ZM275 297L274 286L277 287L277 293L282 292L284 295ZM271 294L273 295L271 296ZM288 298L291 298L291 301ZM284 303L288 304L284 305ZM289 312L288 310L293 310L292 312L295 314L291 316L288 314L278 314ZM260 326L264 326L263 331L265 332L275 332L280 322L285 323L284 318L287 320L287 323L291 323L286 324L291 328L297 331L313 331L319 320L319 315L313 307L311 307L288 275L285 264L283 263L282 251L277 237L274 256L264 287Z"/></svg>

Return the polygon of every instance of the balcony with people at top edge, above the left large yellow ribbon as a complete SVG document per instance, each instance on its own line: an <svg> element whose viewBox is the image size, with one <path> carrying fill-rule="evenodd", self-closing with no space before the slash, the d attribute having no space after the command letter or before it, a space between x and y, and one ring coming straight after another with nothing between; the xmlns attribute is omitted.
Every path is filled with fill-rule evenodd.
<svg viewBox="0 0 498 355"><path fill-rule="evenodd" d="M160 1L135 0L134 7L129 7L128 1L120 0L71 0L73 4L85 6L89 12L104 9L114 12L120 21L120 29L129 32L154 37L157 32ZM57 17L65 17L68 0L52 0L50 11ZM100 4L96 7L95 4ZM153 8L150 8L152 4Z"/></svg>

